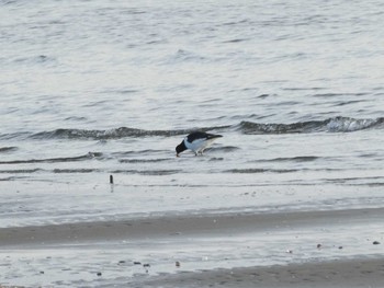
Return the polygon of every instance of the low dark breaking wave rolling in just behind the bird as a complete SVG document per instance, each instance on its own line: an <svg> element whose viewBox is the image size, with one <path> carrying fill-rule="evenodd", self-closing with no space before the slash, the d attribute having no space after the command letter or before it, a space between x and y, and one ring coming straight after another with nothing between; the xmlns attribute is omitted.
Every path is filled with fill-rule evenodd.
<svg viewBox="0 0 384 288"><path fill-rule="evenodd" d="M334 117L325 120L308 120L291 124L282 123L255 123L241 122L237 125L214 126L199 128L202 131L236 130L245 135L269 135L269 134L308 134L308 133L351 133L369 128L383 128L384 117L357 119L350 117ZM139 138L139 137L173 137L190 134L193 129L174 129L174 130L146 130L129 127L120 127L105 130L88 130L88 129L55 129L42 133L16 133L0 135L0 139L27 138L27 139L70 139L70 140L109 140L121 138ZM12 150L14 148L5 148L1 152Z"/></svg>

